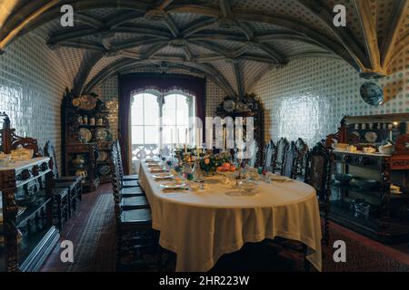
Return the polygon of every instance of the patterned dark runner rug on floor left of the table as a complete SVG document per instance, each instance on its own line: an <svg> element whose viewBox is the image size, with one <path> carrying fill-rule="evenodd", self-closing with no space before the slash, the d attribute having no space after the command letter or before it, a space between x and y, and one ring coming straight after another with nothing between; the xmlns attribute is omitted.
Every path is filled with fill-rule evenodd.
<svg viewBox="0 0 409 290"><path fill-rule="evenodd" d="M115 213L111 194L98 197L75 247L74 261L68 272L115 271Z"/></svg>

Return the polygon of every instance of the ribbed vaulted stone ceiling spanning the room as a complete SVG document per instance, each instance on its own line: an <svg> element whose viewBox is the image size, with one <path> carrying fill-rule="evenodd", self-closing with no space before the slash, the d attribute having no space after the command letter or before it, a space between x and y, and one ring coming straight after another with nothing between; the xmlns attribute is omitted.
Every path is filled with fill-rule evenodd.
<svg viewBox="0 0 409 290"><path fill-rule="evenodd" d="M62 27L62 5L74 27ZM346 7L346 27L333 24ZM384 76L409 46L409 0L3 0L0 52L27 33L61 57L75 93L132 68L205 75L241 97L295 58L333 57Z"/></svg>

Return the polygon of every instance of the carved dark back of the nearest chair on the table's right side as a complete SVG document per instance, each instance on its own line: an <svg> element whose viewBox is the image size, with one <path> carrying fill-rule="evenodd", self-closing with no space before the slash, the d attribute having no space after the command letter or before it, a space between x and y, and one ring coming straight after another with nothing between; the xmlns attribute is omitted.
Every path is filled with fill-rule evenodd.
<svg viewBox="0 0 409 290"><path fill-rule="evenodd" d="M308 152L305 166L305 183L311 185L320 199L329 201L331 194L331 152L323 142Z"/></svg>

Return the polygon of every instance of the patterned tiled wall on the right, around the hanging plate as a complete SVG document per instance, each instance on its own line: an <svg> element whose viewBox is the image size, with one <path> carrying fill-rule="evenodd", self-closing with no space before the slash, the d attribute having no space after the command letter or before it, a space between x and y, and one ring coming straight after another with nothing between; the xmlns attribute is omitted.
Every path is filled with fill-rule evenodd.
<svg viewBox="0 0 409 290"><path fill-rule="evenodd" d="M301 137L310 146L337 131L344 115L409 112L409 50L377 80L388 100L374 107L361 99L366 81L348 64L337 59L304 58L266 73L254 86L264 102L266 140Z"/></svg>

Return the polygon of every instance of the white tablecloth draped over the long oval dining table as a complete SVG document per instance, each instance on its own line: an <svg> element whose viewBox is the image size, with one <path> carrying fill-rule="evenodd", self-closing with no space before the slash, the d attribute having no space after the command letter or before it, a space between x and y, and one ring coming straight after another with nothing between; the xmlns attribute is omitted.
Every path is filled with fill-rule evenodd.
<svg viewBox="0 0 409 290"><path fill-rule="evenodd" d="M260 182L254 196L231 196L224 177L206 179L205 190L165 193L141 162L139 184L152 209L159 243L177 255L176 271L210 270L220 256L246 242L284 237L304 243L321 271L321 224L315 190L299 181Z"/></svg>

